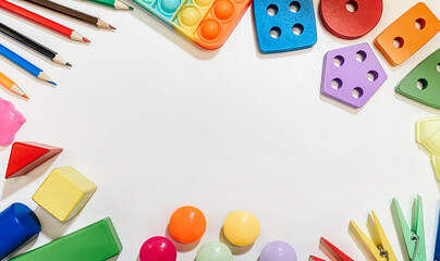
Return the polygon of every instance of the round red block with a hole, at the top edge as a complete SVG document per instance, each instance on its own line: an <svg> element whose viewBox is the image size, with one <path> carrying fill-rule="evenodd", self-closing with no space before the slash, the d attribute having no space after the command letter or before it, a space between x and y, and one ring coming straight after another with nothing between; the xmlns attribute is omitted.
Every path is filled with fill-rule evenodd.
<svg viewBox="0 0 440 261"><path fill-rule="evenodd" d="M382 16L382 0L321 0L319 15L334 36L356 39L372 30Z"/></svg>

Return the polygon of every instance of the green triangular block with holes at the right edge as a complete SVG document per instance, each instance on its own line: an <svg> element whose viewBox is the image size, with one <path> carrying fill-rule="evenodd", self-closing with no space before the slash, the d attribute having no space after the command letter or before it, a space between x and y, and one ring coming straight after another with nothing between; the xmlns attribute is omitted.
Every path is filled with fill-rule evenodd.
<svg viewBox="0 0 440 261"><path fill-rule="evenodd" d="M395 87L395 91L426 105L440 109L440 49L413 69Z"/></svg>

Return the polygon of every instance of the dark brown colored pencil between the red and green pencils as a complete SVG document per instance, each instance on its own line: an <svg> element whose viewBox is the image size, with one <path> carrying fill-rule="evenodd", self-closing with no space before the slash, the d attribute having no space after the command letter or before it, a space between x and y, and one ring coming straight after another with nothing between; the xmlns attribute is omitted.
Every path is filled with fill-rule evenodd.
<svg viewBox="0 0 440 261"><path fill-rule="evenodd" d="M37 4L39 7L50 9L52 11L65 14L68 16L84 21L86 23L96 25L98 28L106 28L106 29L115 29L113 26L109 25L108 23L103 22L102 20L91 16L89 14L76 11L74 9L61 5L59 3L49 1L49 0L24 0L26 2L30 2Z"/></svg>

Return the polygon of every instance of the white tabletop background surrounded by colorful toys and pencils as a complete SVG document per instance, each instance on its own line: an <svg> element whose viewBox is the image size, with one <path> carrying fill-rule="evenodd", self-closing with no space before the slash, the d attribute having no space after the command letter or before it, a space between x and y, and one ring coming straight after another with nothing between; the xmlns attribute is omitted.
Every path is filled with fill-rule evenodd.
<svg viewBox="0 0 440 261"><path fill-rule="evenodd" d="M367 231L372 209L402 260L391 200L399 198L410 220L413 198L420 194L427 257L432 260L439 188L428 156L415 144L414 126L418 117L440 113L394 94L394 87L439 48L440 35L396 67L374 48L389 79L363 109L320 95L327 51L371 45L416 1L384 1L378 26L357 40L333 37L318 18L314 48L270 55L258 52L250 10L220 50L208 51L137 7L124 12L59 2L96 14L118 30L98 30L22 3L91 40L78 44L0 12L4 23L73 64L71 70L53 65L0 37L59 84L41 84L0 59L1 71L32 99L0 90L27 119L16 140L64 148L26 176L0 181L0 210L24 202L36 209L42 224L38 239L21 252L110 216L124 246L119 260L136 260L147 238L166 235L171 213L191 204L204 211L207 231L194 249L180 246L185 251L178 260L194 260L203 244L218 240L234 210L253 212L261 223L252 248L233 249L236 261L257 260L271 240L291 244L298 260L310 253L323 257L320 236L365 260L347 227L353 219ZM318 1L314 3L316 11ZM440 16L439 2L427 4ZM0 173L9 152L10 147L0 150ZM50 170L65 165L95 182L98 190L76 217L60 223L30 197Z"/></svg>

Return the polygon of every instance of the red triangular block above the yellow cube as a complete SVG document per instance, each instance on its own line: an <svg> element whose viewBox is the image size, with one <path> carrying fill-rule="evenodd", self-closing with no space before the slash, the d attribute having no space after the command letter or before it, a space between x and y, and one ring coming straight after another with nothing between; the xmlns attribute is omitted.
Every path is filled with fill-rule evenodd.
<svg viewBox="0 0 440 261"><path fill-rule="evenodd" d="M5 177L23 176L61 151L63 149L44 144L14 142Z"/></svg>

